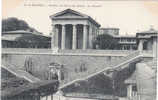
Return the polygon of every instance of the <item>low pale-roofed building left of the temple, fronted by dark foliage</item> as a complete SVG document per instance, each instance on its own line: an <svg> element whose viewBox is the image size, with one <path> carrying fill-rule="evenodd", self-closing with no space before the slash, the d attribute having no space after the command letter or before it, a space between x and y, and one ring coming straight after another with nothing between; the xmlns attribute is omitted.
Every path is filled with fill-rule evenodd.
<svg viewBox="0 0 158 100"><path fill-rule="evenodd" d="M49 36L38 32L24 30L2 32L3 48L50 48L50 41Z"/></svg>

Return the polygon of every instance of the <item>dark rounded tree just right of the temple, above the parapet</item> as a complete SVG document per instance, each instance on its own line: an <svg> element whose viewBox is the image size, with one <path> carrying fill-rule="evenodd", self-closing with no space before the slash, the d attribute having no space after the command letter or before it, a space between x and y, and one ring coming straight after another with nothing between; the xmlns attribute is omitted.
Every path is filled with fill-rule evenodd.
<svg viewBox="0 0 158 100"><path fill-rule="evenodd" d="M98 35L94 41L94 47L98 46L99 49L116 49L118 41L109 34Z"/></svg>

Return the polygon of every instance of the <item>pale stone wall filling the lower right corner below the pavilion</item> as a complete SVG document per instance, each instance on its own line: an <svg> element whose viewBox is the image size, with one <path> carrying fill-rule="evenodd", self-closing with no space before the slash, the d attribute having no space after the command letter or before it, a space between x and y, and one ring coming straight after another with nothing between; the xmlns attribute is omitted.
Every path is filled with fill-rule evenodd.
<svg viewBox="0 0 158 100"><path fill-rule="evenodd" d="M156 100L156 59L137 63L138 94L143 100Z"/></svg>

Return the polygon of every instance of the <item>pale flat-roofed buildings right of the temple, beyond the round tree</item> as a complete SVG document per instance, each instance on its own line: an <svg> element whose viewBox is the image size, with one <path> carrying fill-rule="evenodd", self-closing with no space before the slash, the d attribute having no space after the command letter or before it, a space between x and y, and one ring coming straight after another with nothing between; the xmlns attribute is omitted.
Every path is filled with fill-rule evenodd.
<svg viewBox="0 0 158 100"><path fill-rule="evenodd" d="M151 28L148 31L138 32L136 36L119 35L117 28L101 28L99 34L109 34L119 42L118 50L156 50L158 31Z"/></svg>

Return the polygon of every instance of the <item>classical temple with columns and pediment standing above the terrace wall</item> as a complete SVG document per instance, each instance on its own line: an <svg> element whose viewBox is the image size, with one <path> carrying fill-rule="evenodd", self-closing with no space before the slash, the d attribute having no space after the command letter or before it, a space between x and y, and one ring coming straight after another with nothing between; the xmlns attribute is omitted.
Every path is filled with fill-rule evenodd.
<svg viewBox="0 0 158 100"><path fill-rule="evenodd" d="M50 16L52 19L52 49L88 49L97 35L100 25L91 17L64 10Z"/></svg>

